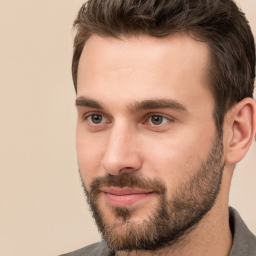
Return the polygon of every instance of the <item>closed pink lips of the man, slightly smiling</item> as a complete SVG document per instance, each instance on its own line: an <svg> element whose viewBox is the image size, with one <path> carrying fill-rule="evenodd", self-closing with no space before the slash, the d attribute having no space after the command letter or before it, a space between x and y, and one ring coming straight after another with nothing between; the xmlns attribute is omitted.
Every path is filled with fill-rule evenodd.
<svg viewBox="0 0 256 256"><path fill-rule="evenodd" d="M136 188L104 187L101 189L105 200L113 206L131 206L151 195L152 191Z"/></svg>

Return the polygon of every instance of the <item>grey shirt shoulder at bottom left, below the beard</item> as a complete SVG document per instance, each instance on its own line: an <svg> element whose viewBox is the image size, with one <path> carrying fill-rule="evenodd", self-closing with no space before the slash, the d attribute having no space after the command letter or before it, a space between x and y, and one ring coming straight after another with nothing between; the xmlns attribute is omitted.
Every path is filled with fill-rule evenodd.
<svg viewBox="0 0 256 256"><path fill-rule="evenodd" d="M59 256L110 256L107 247L104 243L95 242L90 245L87 245L83 248L80 248L75 251L71 251L68 253L61 254Z"/></svg>

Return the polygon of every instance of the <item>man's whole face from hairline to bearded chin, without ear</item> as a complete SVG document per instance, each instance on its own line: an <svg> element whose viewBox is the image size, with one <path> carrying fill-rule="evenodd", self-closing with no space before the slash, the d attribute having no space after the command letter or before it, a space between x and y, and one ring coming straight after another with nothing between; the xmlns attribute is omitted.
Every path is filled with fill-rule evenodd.
<svg viewBox="0 0 256 256"><path fill-rule="evenodd" d="M91 36L77 77L77 157L93 216L116 250L156 249L214 204L222 144L204 81L208 49Z"/></svg>

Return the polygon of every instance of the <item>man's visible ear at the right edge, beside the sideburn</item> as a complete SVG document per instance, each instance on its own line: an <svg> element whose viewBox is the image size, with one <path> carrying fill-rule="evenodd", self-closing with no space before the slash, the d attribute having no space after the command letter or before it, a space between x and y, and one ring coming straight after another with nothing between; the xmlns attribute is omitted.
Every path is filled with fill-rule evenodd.
<svg viewBox="0 0 256 256"><path fill-rule="evenodd" d="M223 125L225 162L239 162L249 150L256 128L256 105L252 98L244 98L226 114Z"/></svg>

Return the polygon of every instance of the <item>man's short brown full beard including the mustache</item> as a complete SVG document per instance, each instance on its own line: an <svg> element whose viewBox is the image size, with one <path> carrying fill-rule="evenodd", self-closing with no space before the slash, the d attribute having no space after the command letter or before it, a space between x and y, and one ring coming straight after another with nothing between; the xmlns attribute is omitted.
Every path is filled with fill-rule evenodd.
<svg viewBox="0 0 256 256"><path fill-rule="evenodd" d="M82 182L90 211L108 248L114 252L157 250L181 240L215 203L223 172L222 147L222 138L216 136L199 167L187 170L186 180L171 194L167 194L164 181L132 172L95 177L88 188ZM136 207L103 207L100 188L107 186L154 191L157 204L143 213L142 221L135 221ZM112 217L106 214L109 212Z"/></svg>

